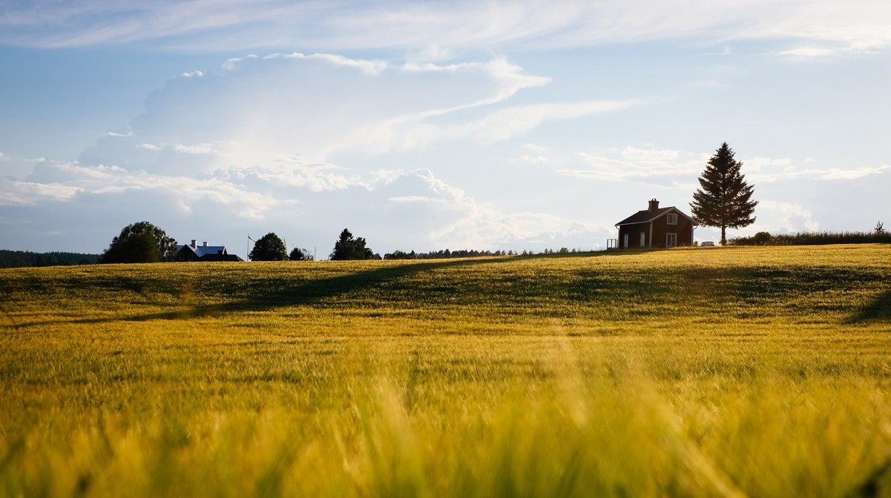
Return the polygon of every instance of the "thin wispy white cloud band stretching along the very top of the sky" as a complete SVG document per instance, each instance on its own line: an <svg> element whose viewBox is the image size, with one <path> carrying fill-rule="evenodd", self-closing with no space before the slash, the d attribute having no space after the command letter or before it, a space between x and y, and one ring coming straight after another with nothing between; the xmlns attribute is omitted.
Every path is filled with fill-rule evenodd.
<svg viewBox="0 0 891 498"><path fill-rule="evenodd" d="M466 47L540 50L692 37L723 44L740 39L815 40L854 50L878 50L891 44L888 25L891 8L871 0L728 0L683 5L405 0L346 6L275 0L247 4L159 0L126 6L25 2L0 14L4 28L0 43L58 47L153 41L203 51L388 47L441 58L444 52ZM219 36L222 29L225 37ZM729 45L724 46L726 51Z"/></svg>

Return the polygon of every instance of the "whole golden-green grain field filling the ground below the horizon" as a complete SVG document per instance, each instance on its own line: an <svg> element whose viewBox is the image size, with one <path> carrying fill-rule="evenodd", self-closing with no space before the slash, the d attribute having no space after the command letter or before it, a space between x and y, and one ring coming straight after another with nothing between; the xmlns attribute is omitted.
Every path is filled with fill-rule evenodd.
<svg viewBox="0 0 891 498"><path fill-rule="evenodd" d="M891 246L0 270L3 496L891 496Z"/></svg>

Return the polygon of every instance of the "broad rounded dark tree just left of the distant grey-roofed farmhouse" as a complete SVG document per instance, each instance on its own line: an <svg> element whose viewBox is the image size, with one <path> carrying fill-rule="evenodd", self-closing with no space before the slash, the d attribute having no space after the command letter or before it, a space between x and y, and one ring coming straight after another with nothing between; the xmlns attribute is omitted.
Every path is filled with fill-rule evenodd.
<svg viewBox="0 0 891 498"><path fill-rule="evenodd" d="M157 263L176 259L176 241L147 221L127 225L111 240L99 263Z"/></svg>

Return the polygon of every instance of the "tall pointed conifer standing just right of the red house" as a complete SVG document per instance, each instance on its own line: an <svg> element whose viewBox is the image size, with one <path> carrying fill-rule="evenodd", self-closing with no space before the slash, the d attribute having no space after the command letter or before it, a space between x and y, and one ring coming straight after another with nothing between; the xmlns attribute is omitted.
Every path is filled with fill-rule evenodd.
<svg viewBox="0 0 891 498"><path fill-rule="evenodd" d="M756 200L752 187L740 173L742 163L733 159L733 150L726 142L708 159L706 170L699 176L690 208L699 225L720 226L721 245L727 243L727 227L741 228L755 223Z"/></svg>

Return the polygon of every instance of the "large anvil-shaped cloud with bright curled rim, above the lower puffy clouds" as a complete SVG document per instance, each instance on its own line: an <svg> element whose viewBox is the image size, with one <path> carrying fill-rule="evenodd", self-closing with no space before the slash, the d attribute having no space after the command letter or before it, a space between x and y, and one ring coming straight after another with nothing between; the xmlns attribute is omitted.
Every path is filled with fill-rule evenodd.
<svg viewBox="0 0 891 498"><path fill-rule="evenodd" d="M547 121L614 112L643 100L511 105L552 78L496 57L457 64L351 59L331 53L249 54L215 78L182 78L151 95L131 123L139 142L100 141L79 160L156 173L264 165L299 154L423 151L470 138L495 143ZM122 138L122 137L116 137ZM133 148L168 152L134 156ZM169 152L206 156L196 161Z"/></svg>

